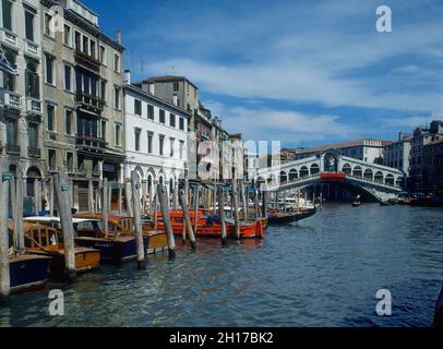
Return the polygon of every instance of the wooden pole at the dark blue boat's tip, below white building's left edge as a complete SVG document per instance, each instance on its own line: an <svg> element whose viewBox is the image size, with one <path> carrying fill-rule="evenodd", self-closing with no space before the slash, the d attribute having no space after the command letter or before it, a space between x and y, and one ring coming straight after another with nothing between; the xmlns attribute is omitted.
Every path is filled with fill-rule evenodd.
<svg viewBox="0 0 443 349"><path fill-rule="evenodd" d="M132 184L132 207L134 209L134 232L135 232L135 245L136 245L136 263L139 269L145 267L145 248L143 243L143 227L142 227L142 213L141 213L141 195L140 195L140 176L137 171L131 172Z"/></svg>

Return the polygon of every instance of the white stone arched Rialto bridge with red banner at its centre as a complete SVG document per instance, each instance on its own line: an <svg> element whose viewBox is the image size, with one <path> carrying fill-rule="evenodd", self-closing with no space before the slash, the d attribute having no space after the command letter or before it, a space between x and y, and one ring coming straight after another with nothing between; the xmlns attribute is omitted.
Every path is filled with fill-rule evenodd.
<svg viewBox="0 0 443 349"><path fill-rule="evenodd" d="M330 151L316 156L282 164L256 171L256 182L270 192L304 190L336 183L374 201L387 201L402 192L402 171L370 164Z"/></svg>

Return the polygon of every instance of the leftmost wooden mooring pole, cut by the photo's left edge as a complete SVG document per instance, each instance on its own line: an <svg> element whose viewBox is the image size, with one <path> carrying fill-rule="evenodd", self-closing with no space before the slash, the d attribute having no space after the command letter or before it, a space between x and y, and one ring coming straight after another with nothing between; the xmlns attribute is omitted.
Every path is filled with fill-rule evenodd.
<svg viewBox="0 0 443 349"><path fill-rule="evenodd" d="M9 179L7 158L0 158L0 301L7 300L11 293L11 279L9 272Z"/></svg>

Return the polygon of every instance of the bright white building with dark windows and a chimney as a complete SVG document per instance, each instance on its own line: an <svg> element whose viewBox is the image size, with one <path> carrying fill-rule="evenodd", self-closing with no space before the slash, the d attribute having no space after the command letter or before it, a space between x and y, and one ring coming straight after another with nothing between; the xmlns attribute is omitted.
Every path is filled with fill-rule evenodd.
<svg viewBox="0 0 443 349"><path fill-rule="evenodd" d="M163 182L171 191L188 176L188 122L190 112L131 85L124 85L124 177L137 170L147 184Z"/></svg>

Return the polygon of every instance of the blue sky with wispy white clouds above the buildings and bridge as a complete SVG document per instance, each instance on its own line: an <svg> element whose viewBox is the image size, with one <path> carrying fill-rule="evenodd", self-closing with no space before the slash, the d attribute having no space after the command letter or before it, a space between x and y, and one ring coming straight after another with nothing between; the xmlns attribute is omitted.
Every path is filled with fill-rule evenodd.
<svg viewBox="0 0 443 349"><path fill-rule="evenodd" d="M185 75L246 140L395 140L443 115L443 3L86 0L139 80ZM393 32L375 31L390 5Z"/></svg>

